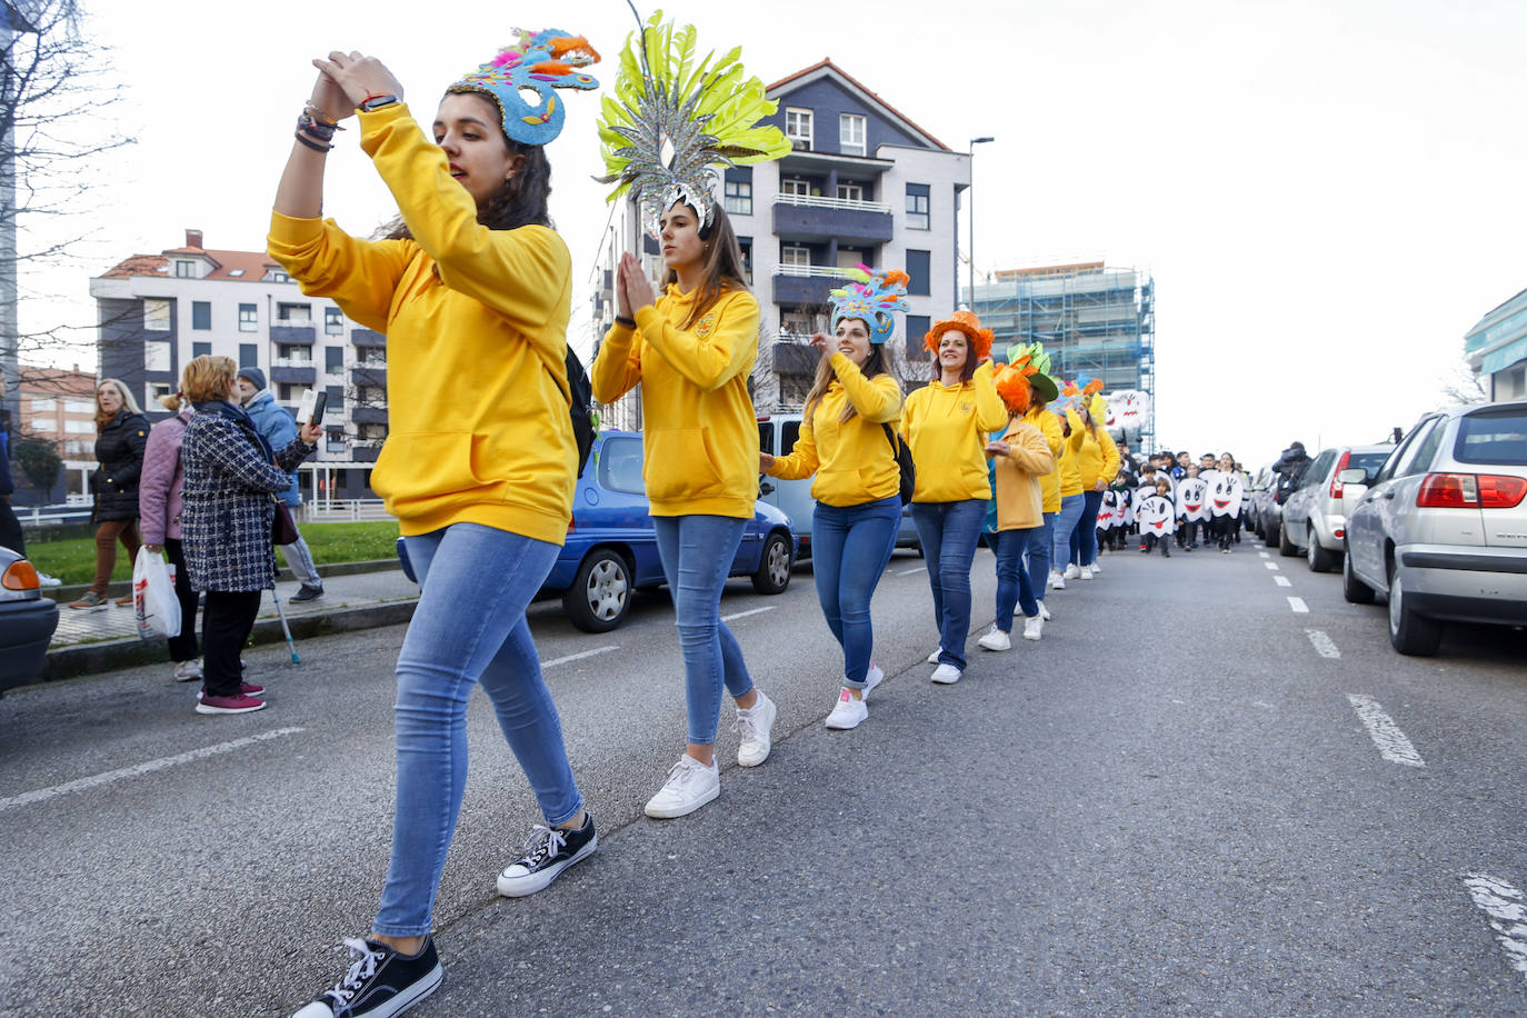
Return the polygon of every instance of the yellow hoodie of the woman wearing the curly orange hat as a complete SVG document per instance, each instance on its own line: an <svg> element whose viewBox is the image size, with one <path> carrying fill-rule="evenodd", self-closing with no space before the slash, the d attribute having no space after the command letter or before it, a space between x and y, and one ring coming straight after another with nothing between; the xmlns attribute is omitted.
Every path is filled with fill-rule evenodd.
<svg viewBox="0 0 1527 1018"><path fill-rule="evenodd" d="M991 382L991 362L970 382L930 382L907 397L901 432L918 467L913 502L989 499L986 435L1008 426L1008 408Z"/></svg>

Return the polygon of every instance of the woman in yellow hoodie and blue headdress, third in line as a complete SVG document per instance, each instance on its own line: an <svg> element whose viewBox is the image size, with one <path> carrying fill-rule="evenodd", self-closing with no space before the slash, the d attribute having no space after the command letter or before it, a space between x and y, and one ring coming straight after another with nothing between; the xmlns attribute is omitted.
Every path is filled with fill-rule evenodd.
<svg viewBox="0 0 1527 1018"><path fill-rule="evenodd" d="M860 267L864 270L864 267ZM907 275L869 275L832 295L834 337L817 333L817 380L806 394L800 438L788 456L759 453L765 473L817 479L811 495L811 571L828 629L843 647L843 688L828 728L857 728L869 717L864 696L886 673L870 661L875 630L869 603L886 572L901 527L901 470L892 424L901 417L901 385L890 372L886 340L892 310L906 311Z"/></svg>

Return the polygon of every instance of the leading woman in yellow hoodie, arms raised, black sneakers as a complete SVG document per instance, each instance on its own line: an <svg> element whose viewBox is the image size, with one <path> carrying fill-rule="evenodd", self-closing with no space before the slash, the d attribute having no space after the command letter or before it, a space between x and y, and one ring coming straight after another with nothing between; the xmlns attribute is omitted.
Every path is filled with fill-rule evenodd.
<svg viewBox="0 0 1527 1018"><path fill-rule="evenodd" d="M313 61L321 73L276 191L270 255L304 293L386 333L397 385L373 485L399 517L421 591L397 661L382 905L371 936L347 942L356 960L345 977L301 1018L395 1013L440 984L431 914L466 784L473 685L545 817L499 893L536 891L597 846L525 624L567 534L577 456L565 366L573 266L547 215L542 145L562 127L553 85L594 87L577 67L597 58L565 32L525 34L450 85L426 128L434 142L380 61ZM519 85L541 92L539 108ZM360 147L397 200L388 240L321 218L325 154L356 113Z"/></svg>

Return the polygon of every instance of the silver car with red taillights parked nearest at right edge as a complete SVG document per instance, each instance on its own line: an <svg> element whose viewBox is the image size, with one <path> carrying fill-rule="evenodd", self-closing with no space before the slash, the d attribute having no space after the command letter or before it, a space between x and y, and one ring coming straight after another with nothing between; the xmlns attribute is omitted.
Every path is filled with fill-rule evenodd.
<svg viewBox="0 0 1527 1018"><path fill-rule="evenodd" d="M1422 417L1347 520L1342 594L1387 594L1390 643L1406 655L1435 653L1448 621L1527 624L1524 499L1527 401Z"/></svg>

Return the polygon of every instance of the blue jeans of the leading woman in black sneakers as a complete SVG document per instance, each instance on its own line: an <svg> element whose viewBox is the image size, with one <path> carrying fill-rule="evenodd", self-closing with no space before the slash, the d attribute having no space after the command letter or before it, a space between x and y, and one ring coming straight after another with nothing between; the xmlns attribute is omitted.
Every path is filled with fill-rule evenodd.
<svg viewBox="0 0 1527 1018"><path fill-rule="evenodd" d="M567 823L583 809L525 624L525 606L551 572L557 546L479 523L405 540L421 592L397 658L392 862L371 926L388 937L429 933L467 780L475 684L493 702L547 823Z"/></svg>

